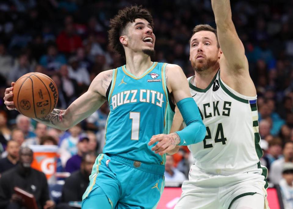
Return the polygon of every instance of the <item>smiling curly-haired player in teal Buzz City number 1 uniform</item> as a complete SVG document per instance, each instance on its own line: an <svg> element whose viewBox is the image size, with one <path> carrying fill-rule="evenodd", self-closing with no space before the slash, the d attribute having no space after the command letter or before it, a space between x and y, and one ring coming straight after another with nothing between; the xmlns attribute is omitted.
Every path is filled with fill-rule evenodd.
<svg viewBox="0 0 293 209"><path fill-rule="evenodd" d="M93 165L84 209L156 208L164 189L165 153L204 139L206 129L182 69L150 59L156 39L153 25L150 13L139 6L119 11L110 21L109 41L126 58L126 65L96 76L89 90L66 110L54 109L36 119L67 130L109 103L106 144ZM5 91L8 109L15 108L12 89ZM168 134L172 101L187 127Z"/></svg>

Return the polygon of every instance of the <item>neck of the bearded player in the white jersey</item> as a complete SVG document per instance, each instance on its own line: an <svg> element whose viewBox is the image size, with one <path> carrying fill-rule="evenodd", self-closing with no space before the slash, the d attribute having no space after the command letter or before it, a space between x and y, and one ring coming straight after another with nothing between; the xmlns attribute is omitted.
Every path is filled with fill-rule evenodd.
<svg viewBox="0 0 293 209"><path fill-rule="evenodd" d="M212 82L215 74L218 72L219 66L212 66L209 69L204 70L203 72L194 73L194 79L191 81L197 88L205 89Z"/></svg>

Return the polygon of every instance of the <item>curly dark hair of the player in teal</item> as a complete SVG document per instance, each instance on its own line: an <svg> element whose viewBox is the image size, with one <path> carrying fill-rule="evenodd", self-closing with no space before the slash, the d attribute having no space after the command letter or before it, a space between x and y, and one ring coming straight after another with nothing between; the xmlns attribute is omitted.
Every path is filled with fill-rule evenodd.
<svg viewBox="0 0 293 209"><path fill-rule="evenodd" d="M110 19L110 30L108 30L108 40L110 48L121 55L125 59L125 51L119 41L119 37L127 33L128 23L132 23L135 19L141 18L147 20L151 27L154 28L153 17L147 9L143 9L142 5L126 7L118 11L118 14Z"/></svg>

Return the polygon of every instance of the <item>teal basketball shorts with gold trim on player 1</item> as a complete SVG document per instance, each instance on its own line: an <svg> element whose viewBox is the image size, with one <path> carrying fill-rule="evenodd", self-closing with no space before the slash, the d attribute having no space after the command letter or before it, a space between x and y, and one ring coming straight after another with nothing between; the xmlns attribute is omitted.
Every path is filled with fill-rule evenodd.
<svg viewBox="0 0 293 209"><path fill-rule="evenodd" d="M164 171L164 165L100 154L82 197L82 209L99 209L109 203L111 209L156 208L165 186Z"/></svg>

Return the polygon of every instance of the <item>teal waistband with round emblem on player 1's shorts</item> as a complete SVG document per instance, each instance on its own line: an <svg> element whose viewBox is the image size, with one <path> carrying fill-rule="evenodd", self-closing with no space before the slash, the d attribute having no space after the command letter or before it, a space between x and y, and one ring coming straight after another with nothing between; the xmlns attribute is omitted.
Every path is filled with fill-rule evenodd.
<svg viewBox="0 0 293 209"><path fill-rule="evenodd" d="M134 161L127 158L123 158L117 155L111 155L107 154L110 158L113 158L125 165L128 165L132 168L136 168L138 170L148 172L148 173L154 173L158 175L164 175L165 172L165 165L159 165L159 164L152 164L152 163L145 163L140 161Z"/></svg>

